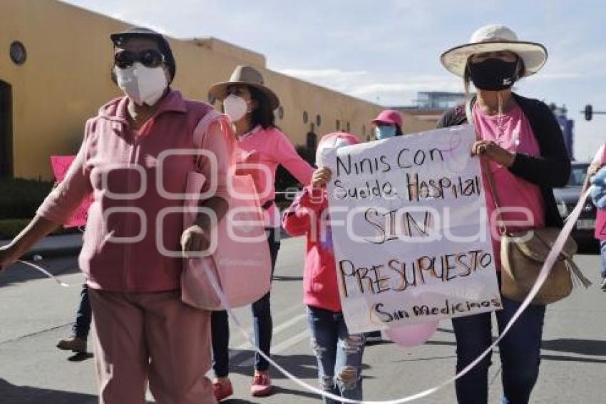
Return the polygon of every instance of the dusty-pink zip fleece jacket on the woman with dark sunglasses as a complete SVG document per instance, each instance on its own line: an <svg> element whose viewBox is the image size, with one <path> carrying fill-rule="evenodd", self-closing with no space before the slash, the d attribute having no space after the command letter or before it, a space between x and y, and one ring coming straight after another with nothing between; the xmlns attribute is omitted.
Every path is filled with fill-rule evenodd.
<svg viewBox="0 0 606 404"><path fill-rule="evenodd" d="M79 258L81 270L88 275L88 285L118 292L176 290L180 288L183 260L166 256L158 246L162 243L168 251L180 251L183 213L170 213L163 219L160 213L167 208L181 208L183 199L163 197L158 183L166 192L185 192L186 178L189 171L195 170L195 160L192 155L169 156L160 171L158 157L170 149L195 148L192 133L212 106L184 100L178 91L170 91L139 131L130 128L127 106L126 97L115 99L86 122L76 160L66 178L38 208L38 215L66 223L92 193L93 204ZM211 123L202 136L202 149L217 157L215 196L226 199L227 161L233 136L223 116ZM200 159L198 171L212 178L208 158ZM125 237L136 240L120 242L119 238Z"/></svg>

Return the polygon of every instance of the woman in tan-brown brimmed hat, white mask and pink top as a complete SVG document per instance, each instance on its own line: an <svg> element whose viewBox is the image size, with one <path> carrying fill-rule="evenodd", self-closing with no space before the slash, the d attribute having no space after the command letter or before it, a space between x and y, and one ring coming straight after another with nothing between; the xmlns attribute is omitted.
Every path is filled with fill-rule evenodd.
<svg viewBox="0 0 606 404"><path fill-rule="evenodd" d="M247 173L255 179L265 209L269 251L272 253L272 273L279 249L279 211L274 203L275 173L282 164L299 182L308 184L313 168L294 150L292 143L274 124L274 110L279 106L277 95L263 83L259 71L251 66L237 66L229 81L214 84L210 94L222 101L225 113L235 126L240 161L247 167ZM250 169L257 165L257 169ZM272 342L272 314L269 293L252 304L255 342L269 355ZM229 326L227 313L212 313L212 349L214 354L215 397L218 400L233 393L229 374ZM272 390L267 372L269 363L261 355L255 355L255 375L251 393L262 397Z"/></svg>

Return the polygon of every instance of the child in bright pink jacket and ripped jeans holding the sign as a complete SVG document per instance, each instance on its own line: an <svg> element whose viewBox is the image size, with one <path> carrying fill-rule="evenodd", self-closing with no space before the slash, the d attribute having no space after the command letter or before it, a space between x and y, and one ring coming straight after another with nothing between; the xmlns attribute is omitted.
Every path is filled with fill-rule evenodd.
<svg viewBox="0 0 606 404"><path fill-rule="evenodd" d="M359 143L356 136L343 132L329 133L322 138L316 155L319 168L314 171L312 185L306 186L284 211L282 226L291 236L307 236L304 302L312 348L318 360L319 383L327 393L361 400L364 335L349 333L341 311L324 188L331 173L320 163L324 148L356 143ZM324 398L324 403L337 401Z"/></svg>

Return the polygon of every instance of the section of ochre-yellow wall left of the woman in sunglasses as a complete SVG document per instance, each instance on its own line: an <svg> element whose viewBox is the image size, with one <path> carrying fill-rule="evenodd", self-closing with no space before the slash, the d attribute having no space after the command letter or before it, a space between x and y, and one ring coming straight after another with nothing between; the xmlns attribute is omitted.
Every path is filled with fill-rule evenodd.
<svg viewBox="0 0 606 404"><path fill-rule="evenodd" d="M118 96L110 79L111 19L55 1L2 1L0 80L13 91L14 175L51 178L48 157L73 153L86 117ZM12 41L27 61L9 59Z"/></svg>

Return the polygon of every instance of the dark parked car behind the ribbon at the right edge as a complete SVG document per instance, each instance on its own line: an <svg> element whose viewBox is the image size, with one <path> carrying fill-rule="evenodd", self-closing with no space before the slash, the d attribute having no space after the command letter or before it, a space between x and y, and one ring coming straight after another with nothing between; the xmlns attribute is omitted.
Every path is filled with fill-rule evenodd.
<svg viewBox="0 0 606 404"><path fill-rule="evenodd" d="M568 217L572 209L577 206L583 183L585 183L587 168L589 168L589 163L573 162L568 184L564 188L554 188L553 190L555 202L558 203L558 211L563 218ZM593 237L595 214L596 208L589 198L583 206L579 220L572 229L572 238L577 241L579 246L597 248L597 241Z"/></svg>

